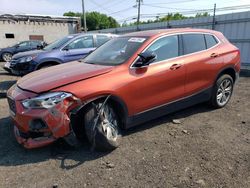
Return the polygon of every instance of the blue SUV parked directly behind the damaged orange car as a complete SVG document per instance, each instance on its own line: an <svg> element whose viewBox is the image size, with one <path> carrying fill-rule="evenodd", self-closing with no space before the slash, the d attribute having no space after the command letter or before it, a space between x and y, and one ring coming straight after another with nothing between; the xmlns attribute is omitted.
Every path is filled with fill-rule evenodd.
<svg viewBox="0 0 250 188"><path fill-rule="evenodd" d="M79 60L116 36L112 34L69 35L41 50L16 54L4 68L13 74L25 75L38 69Z"/></svg>

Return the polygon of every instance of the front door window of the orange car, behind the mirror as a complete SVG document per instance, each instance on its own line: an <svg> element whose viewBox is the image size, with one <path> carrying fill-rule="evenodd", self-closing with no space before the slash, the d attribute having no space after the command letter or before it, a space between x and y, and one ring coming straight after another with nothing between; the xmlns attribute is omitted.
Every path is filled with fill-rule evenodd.
<svg viewBox="0 0 250 188"><path fill-rule="evenodd" d="M179 55L178 36L167 36L154 42L147 51L156 54L155 62L177 57Z"/></svg>

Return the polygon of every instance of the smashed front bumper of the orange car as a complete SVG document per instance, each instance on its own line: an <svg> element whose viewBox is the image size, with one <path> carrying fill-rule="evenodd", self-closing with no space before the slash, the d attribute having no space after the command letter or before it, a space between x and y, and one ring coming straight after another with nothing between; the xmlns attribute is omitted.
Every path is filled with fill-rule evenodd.
<svg viewBox="0 0 250 188"><path fill-rule="evenodd" d="M27 149L33 149L71 135L73 130L69 114L79 105L79 100L71 96L50 109L26 109L22 105L23 99L33 96L35 94L18 87L8 91L8 103L17 142Z"/></svg>

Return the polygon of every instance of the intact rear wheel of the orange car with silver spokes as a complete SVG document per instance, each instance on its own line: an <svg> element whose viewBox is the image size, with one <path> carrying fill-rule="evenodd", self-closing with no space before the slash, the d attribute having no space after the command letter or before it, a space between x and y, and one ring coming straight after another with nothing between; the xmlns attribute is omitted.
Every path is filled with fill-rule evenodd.
<svg viewBox="0 0 250 188"><path fill-rule="evenodd" d="M222 87L224 88L224 86L225 90L222 91ZM232 96L233 87L234 81L230 75L224 74L220 76L213 87L212 96L209 101L210 105L214 108L223 108L226 106Z"/></svg>

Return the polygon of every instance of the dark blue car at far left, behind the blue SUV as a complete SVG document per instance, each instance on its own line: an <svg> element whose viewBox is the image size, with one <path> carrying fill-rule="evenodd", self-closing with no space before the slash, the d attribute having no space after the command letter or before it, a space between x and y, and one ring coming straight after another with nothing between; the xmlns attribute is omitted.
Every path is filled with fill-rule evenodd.
<svg viewBox="0 0 250 188"><path fill-rule="evenodd" d="M45 46L46 43L44 41L39 41L39 40L29 40L29 41L19 42L14 46L0 49L0 59L8 62L11 61L13 55L19 52L26 52L38 48L44 48Z"/></svg>

